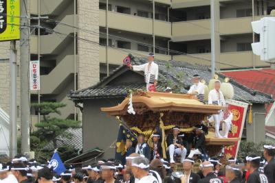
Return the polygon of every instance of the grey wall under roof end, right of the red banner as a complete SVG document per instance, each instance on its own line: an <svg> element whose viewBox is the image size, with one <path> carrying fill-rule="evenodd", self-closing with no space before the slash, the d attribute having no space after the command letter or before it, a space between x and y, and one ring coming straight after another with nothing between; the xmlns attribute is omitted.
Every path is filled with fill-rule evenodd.
<svg viewBox="0 0 275 183"><path fill-rule="evenodd" d="M248 114L246 118L246 139L248 142L260 143L265 141L265 105L253 103L252 111L254 118L251 125L248 124Z"/></svg>

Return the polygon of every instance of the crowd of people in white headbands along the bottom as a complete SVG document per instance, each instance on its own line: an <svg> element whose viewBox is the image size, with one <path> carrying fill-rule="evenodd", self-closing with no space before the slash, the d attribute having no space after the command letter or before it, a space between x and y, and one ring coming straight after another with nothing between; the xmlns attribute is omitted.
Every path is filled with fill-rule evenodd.
<svg viewBox="0 0 275 183"><path fill-rule="evenodd" d="M181 152L182 153L182 152ZM192 158L181 160L182 170L173 171L170 163L159 157L149 161L141 154L126 157L126 164L114 159L99 160L83 167L68 167L61 175L53 167L35 160L17 157L0 164L1 183L75 182L75 183L268 183L275 182L275 146L264 145L263 158L250 155L241 160L229 158L221 164L218 158L209 158L195 170Z"/></svg>

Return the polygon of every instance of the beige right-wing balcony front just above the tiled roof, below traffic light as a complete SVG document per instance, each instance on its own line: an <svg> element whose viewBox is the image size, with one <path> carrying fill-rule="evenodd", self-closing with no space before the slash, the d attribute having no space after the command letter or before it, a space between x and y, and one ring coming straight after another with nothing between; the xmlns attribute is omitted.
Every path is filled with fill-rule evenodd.
<svg viewBox="0 0 275 183"><path fill-rule="evenodd" d="M224 64L216 64L217 69L244 69L253 67L253 52L252 51L239 51L239 52L226 52L221 53L219 62ZM206 60L203 60L205 58ZM190 56L179 55L173 56L173 60L192 62L195 64L209 65L211 64L211 53L192 54ZM259 56L255 56L255 66L265 67L270 66L260 60Z"/></svg>

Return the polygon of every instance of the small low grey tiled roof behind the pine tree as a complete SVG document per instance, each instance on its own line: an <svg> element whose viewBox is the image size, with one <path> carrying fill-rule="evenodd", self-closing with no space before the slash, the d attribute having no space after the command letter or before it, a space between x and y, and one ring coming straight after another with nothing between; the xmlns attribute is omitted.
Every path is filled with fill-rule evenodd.
<svg viewBox="0 0 275 183"><path fill-rule="evenodd" d="M83 141L82 141L82 127L80 128L69 128L65 132L69 132L72 134L72 138L67 138L63 136L58 136L57 138L61 141L57 141L57 147L61 147L63 145L72 145L74 149L82 149L83 148ZM45 145L44 149L52 150L54 149L54 143L52 141Z"/></svg>

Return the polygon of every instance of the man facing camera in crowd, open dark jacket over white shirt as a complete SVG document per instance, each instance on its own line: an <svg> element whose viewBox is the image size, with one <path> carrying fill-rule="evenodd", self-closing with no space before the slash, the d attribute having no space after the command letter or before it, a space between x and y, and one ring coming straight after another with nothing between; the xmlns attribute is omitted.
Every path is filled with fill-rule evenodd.
<svg viewBox="0 0 275 183"><path fill-rule="evenodd" d="M175 178L176 183L197 183L201 179L197 173L193 173L195 161L192 158L186 158L183 163L184 175L181 178Z"/></svg>

